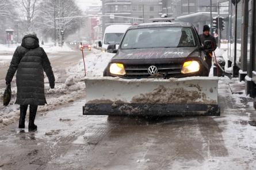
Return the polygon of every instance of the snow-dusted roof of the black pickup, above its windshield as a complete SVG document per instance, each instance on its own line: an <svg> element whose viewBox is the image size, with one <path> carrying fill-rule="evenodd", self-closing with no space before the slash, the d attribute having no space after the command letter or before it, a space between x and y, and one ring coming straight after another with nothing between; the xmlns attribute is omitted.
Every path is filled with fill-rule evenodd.
<svg viewBox="0 0 256 170"><path fill-rule="evenodd" d="M150 22L150 23L143 23L140 25L131 26L129 29L138 29L138 28L151 28L151 27L192 27L193 24L188 22Z"/></svg>

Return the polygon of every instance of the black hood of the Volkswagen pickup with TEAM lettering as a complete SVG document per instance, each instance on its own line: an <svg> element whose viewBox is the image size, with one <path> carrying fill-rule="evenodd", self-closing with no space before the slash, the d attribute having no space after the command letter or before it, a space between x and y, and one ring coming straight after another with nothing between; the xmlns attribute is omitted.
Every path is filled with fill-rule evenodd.
<svg viewBox="0 0 256 170"><path fill-rule="evenodd" d="M144 49L119 49L114 60L141 60L141 59L173 59L188 56L198 56L197 47L186 48L144 48Z"/></svg>

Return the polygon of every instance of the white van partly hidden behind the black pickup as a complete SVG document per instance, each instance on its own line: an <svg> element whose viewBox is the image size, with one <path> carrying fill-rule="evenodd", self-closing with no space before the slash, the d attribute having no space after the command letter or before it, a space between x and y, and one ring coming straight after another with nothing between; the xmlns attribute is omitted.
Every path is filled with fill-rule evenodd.
<svg viewBox="0 0 256 170"><path fill-rule="evenodd" d="M131 25L109 25L109 26L107 26L105 29L105 32L104 32L101 51L106 52L106 49L108 49L109 44L119 44L124 33L130 26ZM100 46L100 44L99 44L99 46ZM118 45L116 48L118 48Z"/></svg>

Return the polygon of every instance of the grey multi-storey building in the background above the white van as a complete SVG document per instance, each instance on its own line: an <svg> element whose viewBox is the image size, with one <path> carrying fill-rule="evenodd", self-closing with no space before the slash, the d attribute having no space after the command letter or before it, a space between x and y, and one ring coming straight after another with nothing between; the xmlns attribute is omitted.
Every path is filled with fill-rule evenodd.
<svg viewBox="0 0 256 170"><path fill-rule="evenodd" d="M162 15L162 0L102 0L102 30L113 24L141 24Z"/></svg>

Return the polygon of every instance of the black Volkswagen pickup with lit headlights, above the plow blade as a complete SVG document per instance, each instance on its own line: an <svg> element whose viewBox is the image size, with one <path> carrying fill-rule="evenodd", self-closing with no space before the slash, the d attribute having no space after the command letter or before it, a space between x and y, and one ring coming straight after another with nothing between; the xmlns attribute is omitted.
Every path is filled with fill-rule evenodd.
<svg viewBox="0 0 256 170"><path fill-rule="evenodd" d="M108 52L116 55L104 76L125 79L208 76L207 55L196 28L189 23L162 20L131 26L117 50L115 44L110 45Z"/></svg>

